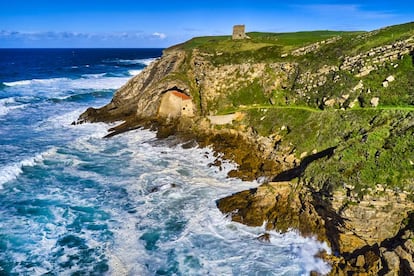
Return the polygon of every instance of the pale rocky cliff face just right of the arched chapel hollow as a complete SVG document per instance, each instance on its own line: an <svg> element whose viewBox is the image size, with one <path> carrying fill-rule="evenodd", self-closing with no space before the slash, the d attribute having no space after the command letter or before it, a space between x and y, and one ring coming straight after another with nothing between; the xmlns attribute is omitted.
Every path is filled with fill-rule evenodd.
<svg viewBox="0 0 414 276"><path fill-rule="evenodd" d="M206 54L194 51L191 71L200 96L202 114L215 114L235 102L242 104L267 103L273 93L291 86L297 64L294 62L241 63L214 66ZM257 86L259 91L246 91L246 98L240 90ZM257 97L256 99L254 97ZM260 98L259 98L260 97Z"/></svg>

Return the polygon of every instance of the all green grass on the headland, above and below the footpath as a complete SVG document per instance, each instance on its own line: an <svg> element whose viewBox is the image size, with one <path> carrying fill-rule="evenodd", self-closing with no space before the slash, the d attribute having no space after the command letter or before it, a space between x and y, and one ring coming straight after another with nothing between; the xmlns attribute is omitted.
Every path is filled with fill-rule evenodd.
<svg viewBox="0 0 414 276"><path fill-rule="evenodd" d="M210 101L204 103L207 108L204 111L206 114L242 111L246 116L238 124L253 128L261 136L279 135L282 140L277 147L298 158L305 152L309 155L314 150L336 147L331 158L318 159L308 166L303 181L315 190L334 190L352 184L355 192L363 196L368 188L377 184L395 190L414 190L414 54L384 62L362 78L349 71L331 72L322 85L309 91L303 87L308 83L299 80L305 73L315 74L326 65L339 67L345 57L413 35L414 23L370 33L251 32L248 33L250 39L246 40L234 41L230 36L198 37L166 51L180 49L191 55L197 49L216 67L249 63L295 64L295 72L289 72L291 75L280 87L271 85L275 78L281 78L277 75L280 72L270 67L260 78L250 79L248 73L243 75L242 72L237 72L234 78L230 76L233 79L226 76L226 81L233 85L216 91L214 99L207 99ZM294 49L337 36L341 39L323 44L314 52L282 58ZM178 77L194 88L191 94L198 100L196 84L187 74L191 66L186 66ZM395 81L385 88L382 82L390 75ZM353 90L360 81L363 88ZM341 106L336 104L321 110L326 99L340 99L344 95L349 95L350 102L358 99L358 105L340 110ZM380 99L376 108L370 104L373 97Z"/></svg>

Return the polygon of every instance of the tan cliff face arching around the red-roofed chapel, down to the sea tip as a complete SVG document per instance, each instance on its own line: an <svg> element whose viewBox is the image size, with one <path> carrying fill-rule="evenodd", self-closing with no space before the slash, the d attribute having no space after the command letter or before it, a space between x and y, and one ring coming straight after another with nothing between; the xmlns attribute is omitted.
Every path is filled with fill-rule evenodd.
<svg viewBox="0 0 414 276"><path fill-rule="evenodd" d="M208 55L197 49L191 53L171 50L121 87L111 103L88 110L79 122L116 121L130 116L155 118L162 93L173 88L192 96L198 115L215 114L232 105L229 98L253 83L262 93L259 101L267 103L274 91L290 86L295 69L295 63L289 62L214 66ZM241 100L254 102L252 98Z"/></svg>

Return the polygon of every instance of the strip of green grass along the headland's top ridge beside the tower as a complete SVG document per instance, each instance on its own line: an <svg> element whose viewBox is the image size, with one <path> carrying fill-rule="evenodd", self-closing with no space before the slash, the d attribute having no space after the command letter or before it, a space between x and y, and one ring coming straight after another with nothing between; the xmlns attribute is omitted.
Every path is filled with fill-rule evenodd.
<svg viewBox="0 0 414 276"><path fill-rule="evenodd" d="M323 51L324 55L328 54L328 56L324 57L325 62L326 60L337 61L338 57L343 54L354 55L373 47L409 38L414 35L414 23L395 25L373 33L322 30L294 33L250 32L247 35L250 39L232 40L230 35L195 37L185 43L170 47L166 51L177 49L191 51L198 49L204 53L215 55L214 58L218 58L221 55L235 54L243 57L249 54L254 57L255 54L259 54L257 50L262 49L268 53L268 58L272 57L278 60L280 55L275 54L291 51L329 38L341 37L341 41L325 45L326 51ZM233 62L238 62L237 55L234 58ZM229 60L226 59L226 61L228 62Z"/></svg>

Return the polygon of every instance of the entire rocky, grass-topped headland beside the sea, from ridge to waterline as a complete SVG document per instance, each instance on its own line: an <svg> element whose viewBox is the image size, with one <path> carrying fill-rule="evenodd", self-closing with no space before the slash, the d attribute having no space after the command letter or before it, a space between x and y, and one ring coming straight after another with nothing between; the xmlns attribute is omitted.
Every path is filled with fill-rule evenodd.
<svg viewBox="0 0 414 276"><path fill-rule="evenodd" d="M263 181L218 208L326 241L332 275L414 274L414 23L194 38L76 123L115 121L108 136L212 145Z"/></svg>

